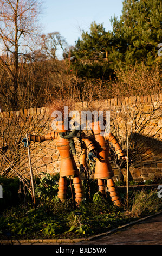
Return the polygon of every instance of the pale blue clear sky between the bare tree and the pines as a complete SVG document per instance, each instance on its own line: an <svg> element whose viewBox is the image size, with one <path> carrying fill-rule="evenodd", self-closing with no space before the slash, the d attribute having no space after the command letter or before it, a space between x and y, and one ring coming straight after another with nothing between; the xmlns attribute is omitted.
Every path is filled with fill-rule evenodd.
<svg viewBox="0 0 162 256"><path fill-rule="evenodd" d="M43 33L59 32L68 45L75 45L93 21L103 23L106 31L112 30L109 20L120 18L122 0L44 0L43 7Z"/></svg>

